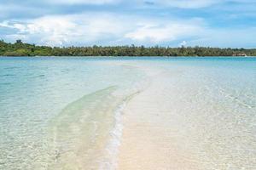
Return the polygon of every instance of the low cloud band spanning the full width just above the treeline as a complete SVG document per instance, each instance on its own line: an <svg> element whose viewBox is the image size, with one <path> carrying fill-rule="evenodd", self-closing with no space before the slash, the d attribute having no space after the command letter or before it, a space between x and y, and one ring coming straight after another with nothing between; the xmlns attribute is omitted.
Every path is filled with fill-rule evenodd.
<svg viewBox="0 0 256 170"><path fill-rule="evenodd" d="M0 22L6 41L22 39L50 46L184 45L253 48L256 28L217 29L203 20L113 13L48 15L34 20ZM236 36L234 36L236 35ZM186 40L183 42L183 40Z"/></svg>

